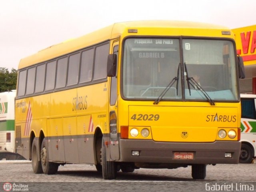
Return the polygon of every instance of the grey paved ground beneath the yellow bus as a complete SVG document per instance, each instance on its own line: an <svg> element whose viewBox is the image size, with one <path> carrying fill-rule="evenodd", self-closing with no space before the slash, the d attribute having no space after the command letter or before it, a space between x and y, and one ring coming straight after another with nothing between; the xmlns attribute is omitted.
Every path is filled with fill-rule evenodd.
<svg viewBox="0 0 256 192"><path fill-rule="evenodd" d="M0 192L10 182L20 191L256 191L256 164L217 164L207 166L205 180L193 180L191 167L138 169L133 173L118 172L116 180L103 180L95 166L69 164L60 166L55 175L34 174L29 161L0 161ZM26 187L26 185L28 185ZM223 190L218 190L222 186ZM248 190L241 190L244 187ZM246 188L247 187L247 188ZM250 188L249 188L250 187ZM225 190L224 190L225 188ZM12 189L13 190L13 189Z"/></svg>

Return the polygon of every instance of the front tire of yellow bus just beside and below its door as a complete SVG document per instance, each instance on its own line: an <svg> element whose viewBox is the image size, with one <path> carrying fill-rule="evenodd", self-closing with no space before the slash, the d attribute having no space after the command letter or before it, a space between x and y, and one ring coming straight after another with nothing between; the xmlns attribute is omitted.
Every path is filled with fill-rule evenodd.
<svg viewBox="0 0 256 192"><path fill-rule="evenodd" d="M106 148L104 140L102 139L101 148L101 160L102 160L102 176L105 180L112 180L116 178L116 164L113 161L106 160Z"/></svg>

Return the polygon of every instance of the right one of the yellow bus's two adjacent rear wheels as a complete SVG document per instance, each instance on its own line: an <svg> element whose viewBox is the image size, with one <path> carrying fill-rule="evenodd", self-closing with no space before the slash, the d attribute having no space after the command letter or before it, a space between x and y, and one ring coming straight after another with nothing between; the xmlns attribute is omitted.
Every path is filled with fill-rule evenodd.
<svg viewBox="0 0 256 192"><path fill-rule="evenodd" d="M54 162L49 162L48 157L48 146L46 143L46 138L44 138L41 146L41 165L44 174L52 175L58 171L59 164Z"/></svg>

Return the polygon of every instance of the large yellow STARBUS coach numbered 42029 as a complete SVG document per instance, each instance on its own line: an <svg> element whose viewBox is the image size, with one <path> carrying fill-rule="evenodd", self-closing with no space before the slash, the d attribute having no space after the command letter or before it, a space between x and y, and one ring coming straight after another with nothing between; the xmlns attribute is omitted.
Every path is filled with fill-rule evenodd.
<svg viewBox="0 0 256 192"><path fill-rule="evenodd" d="M50 46L19 64L16 151L37 174L191 166L204 179L239 160L239 61L229 29L194 22L121 22Z"/></svg>

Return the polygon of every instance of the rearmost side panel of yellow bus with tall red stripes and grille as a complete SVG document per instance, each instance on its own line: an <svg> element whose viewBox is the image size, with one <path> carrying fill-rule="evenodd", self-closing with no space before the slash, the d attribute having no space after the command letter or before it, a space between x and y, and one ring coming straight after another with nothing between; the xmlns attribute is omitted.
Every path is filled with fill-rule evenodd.
<svg viewBox="0 0 256 192"><path fill-rule="evenodd" d="M31 133L36 138L40 131L46 132L46 117L50 114L50 94L28 97L16 100L15 104L15 128L16 128L16 150L29 159ZM47 135L45 135L47 136ZM31 141L32 142L32 141Z"/></svg>

